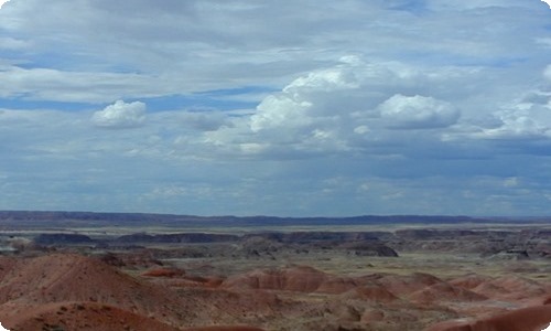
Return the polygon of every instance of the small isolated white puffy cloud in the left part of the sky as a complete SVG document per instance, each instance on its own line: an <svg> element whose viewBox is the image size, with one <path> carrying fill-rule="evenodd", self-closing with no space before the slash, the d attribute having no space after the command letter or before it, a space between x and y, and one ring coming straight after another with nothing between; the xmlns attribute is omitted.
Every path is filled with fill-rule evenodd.
<svg viewBox="0 0 551 331"><path fill-rule="evenodd" d="M91 116L91 122L102 128L132 128L141 126L144 120L145 104L141 102L117 100Z"/></svg>

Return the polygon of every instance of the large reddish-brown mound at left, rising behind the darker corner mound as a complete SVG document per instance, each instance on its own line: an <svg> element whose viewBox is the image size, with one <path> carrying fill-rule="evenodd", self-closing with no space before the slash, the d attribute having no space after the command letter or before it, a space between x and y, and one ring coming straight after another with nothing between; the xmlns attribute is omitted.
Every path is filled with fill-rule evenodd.
<svg viewBox="0 0 551 331"><path fill-rule="evenodd" d="M7 271L7 266L10 270ZM3 270L2 270L3 268ZM93 301L171 323L209 322L225 316L205 301L186 300L162 286L140 281L111 266L74 254L0 260L0 303L40 306Z"/></svg>

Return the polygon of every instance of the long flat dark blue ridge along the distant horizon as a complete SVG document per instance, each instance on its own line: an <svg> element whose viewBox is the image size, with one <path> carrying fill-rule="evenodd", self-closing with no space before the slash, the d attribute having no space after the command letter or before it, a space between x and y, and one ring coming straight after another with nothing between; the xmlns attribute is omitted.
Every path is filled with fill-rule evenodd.
<svg viewBox="0 0 551 331"><path fill-rule="evenodd" d="M366 224L457 224L457 223L531 223L549 222L534 217L471 217L446 215L360 215L349 217L278 216L197 216L154 213L101 213L64 211L0 211L1 225L31 226L47 222L50 226L147 225L163 226L292 226L292 225L366 225Z"/></svg>

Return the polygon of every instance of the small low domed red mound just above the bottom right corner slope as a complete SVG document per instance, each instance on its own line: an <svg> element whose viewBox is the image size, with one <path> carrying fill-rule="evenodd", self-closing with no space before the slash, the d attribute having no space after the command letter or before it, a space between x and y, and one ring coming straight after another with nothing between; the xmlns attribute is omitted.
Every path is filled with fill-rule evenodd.
<svg viewBox="0 0 551 331"><path fill-rule="evenodd" d="M447 282L439 282L428 286L419 291L413 292L410 300L417 302L442 302L442 301L482 301L488 299L485 296L475 293L467 289L453 286Z"/></svg>

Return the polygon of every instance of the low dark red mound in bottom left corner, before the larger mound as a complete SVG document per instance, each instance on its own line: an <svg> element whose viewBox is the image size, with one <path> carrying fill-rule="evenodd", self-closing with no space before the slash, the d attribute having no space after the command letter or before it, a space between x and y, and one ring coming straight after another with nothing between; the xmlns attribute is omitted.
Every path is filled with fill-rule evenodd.
<svg viewBox="0 0 551 331"><path fill-rule="evenodd" d="M12 331L28 330L78 330L120 331L155 330L180 331L151 318L139 316L116 307L95 302L64 302L29 308L18 317L2 320Z"/></svg>

